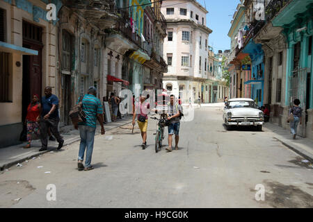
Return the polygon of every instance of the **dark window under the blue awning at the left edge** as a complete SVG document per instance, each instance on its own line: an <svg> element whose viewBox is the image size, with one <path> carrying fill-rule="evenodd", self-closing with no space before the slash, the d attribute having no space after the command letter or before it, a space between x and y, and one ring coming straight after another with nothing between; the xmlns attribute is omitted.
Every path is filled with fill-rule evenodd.
<svg viewBox="0 0 313 222"><path fill-rule="evenodd" d="M10 53L0 52L0 103L10 101Z"/></svg>

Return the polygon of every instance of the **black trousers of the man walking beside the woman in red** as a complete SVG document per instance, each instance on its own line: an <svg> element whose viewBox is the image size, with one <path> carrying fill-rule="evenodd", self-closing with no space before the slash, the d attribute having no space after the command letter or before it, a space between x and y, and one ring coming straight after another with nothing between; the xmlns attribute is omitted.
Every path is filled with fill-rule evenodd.
<svg viewBox="0 0 313 222"><path fill-rule="evenodd" d="M39 121L40 127L40 140L42 144L42 148L47 148L48 146L48 128L50 128L52 135L56 137L58 143L63 142L63 137L61 137L60 133L58 133L58 122L60 118L54 119L43 119L43 117Z"/></svg>

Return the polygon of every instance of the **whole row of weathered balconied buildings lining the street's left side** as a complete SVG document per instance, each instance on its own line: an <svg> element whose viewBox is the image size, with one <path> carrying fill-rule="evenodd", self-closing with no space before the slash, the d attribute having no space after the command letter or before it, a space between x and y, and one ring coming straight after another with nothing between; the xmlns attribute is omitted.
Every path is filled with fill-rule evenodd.
<svg viewBox="0 0 313 222"><path fill-rule="evenodd" d="M111 92L162 89L166 21L161 1L0 0L0 146L19 143L31 95L59 99L60 126L88 87ZM47 20L47 4L56 20ZM151 61L151 62L150 62Z"/></svg>

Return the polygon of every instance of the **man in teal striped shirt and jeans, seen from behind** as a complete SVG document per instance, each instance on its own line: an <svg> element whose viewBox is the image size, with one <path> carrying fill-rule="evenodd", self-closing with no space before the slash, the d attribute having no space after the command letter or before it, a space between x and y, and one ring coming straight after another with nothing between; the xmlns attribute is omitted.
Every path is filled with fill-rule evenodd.
<svg viewBox="0 0 313 222"><path fill-rule="evenodd" d="M95 130L97 127L97 119L101 125L101 134L104 135L105 130L103 126L103 108L102 103L96 97L97 89L89 87L88 94L83 96L81 100L83 103L83 112L86 114L86 121L79 123L79 135L81 136L81 144L79 144L78 170L89 171L93 169L91 163L91 156L93 155L93 142L95 140ZM79 99L80 100L80 99ZM86 149L87 148L87 149ZM86 150L85 167L83 167L83 155Z"/></svg>

